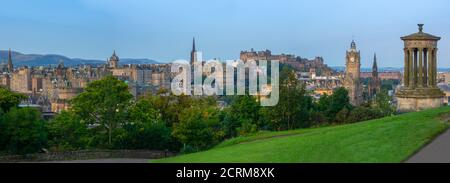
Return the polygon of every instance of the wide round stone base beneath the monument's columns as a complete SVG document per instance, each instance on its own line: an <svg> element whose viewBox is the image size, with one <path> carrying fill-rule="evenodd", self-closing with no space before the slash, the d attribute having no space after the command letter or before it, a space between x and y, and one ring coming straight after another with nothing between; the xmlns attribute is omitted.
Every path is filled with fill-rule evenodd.
<svg viewBox="0 0 450 183"><path fill-rule="evenodd" d="M403 88L396 93L397 112L415 112L444 105L445 94L439 88Z"/></svg>

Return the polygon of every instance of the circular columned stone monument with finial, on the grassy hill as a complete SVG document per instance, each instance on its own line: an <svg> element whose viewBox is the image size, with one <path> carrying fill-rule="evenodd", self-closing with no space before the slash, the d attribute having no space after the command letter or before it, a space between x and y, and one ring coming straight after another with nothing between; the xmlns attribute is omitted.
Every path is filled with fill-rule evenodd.
<svg viewBox="0 0 450 183"><path fill-rule="evenodd" d="M395 94L397 111L409 112L443 105L445 94L436 86L437 42L440 37L423 32L401 37L404 41L405 67L403 86Z"/></svg>

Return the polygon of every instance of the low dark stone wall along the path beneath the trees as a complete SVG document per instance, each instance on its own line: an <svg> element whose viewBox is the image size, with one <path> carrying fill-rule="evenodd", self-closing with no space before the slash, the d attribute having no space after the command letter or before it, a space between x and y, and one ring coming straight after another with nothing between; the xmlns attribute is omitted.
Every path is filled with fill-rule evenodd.
<svg viewBox="0 0 450 183"><path fill-rule="evenodd" d="M83 151L67 151L67 152L49 152L49 153L28 154L28 155L4 155L0 156L0 162L64 161L64 160L110 159L110 158L160 159L175 155L176 153L169 151L83 150Z"/></svg>

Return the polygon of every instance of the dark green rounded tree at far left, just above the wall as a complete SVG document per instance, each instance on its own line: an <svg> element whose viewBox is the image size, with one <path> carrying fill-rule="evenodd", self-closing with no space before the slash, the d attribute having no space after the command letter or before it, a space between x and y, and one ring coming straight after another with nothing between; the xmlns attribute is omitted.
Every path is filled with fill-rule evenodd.
<svg viewBox="0 0 450 183"><path fill-rule="evenodd" d="M45 146L47 134L41 114L32 108L12 108L0 121L0 146L14 154L35 153Z"/></svg>

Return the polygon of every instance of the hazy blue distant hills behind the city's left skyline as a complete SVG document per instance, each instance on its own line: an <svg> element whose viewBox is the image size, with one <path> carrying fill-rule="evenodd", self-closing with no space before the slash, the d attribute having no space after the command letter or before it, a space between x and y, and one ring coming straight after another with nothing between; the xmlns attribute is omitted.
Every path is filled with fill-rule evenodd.
<svg viewBox="0 0 450 183"><path fill-rule="evenodd" d="M61 61L64 62L66 66L75 66L80 64L104 64L104 60L92 60L92 59L81 59L81 58L68 58L62 55L55 54L23 54L20 52L12 51L12 60L15 67L19 66L47 66L47 65L57 65ZM6 62L8 60L8 51L0 50L0 63ZM122 58L120 59L120 64L157 64L159 62L151 59L132 59L132 58Z"/></svg>

